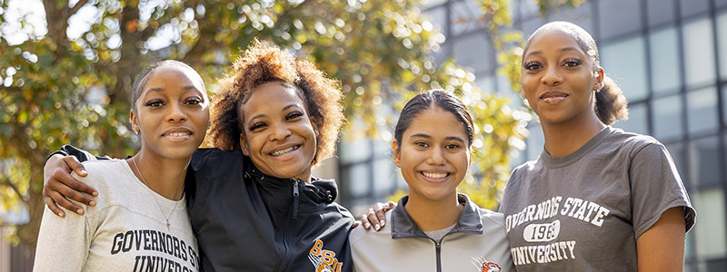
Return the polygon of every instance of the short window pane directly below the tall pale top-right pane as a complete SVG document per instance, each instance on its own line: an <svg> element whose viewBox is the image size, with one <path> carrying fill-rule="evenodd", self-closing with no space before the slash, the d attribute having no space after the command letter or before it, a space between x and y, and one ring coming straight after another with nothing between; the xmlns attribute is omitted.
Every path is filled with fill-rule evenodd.
<svg viewBox="0 0 727 272"><path fill-rule="evenodd" d="M687 127L690 133L717 131L717 89L687 92Z"/></svg>

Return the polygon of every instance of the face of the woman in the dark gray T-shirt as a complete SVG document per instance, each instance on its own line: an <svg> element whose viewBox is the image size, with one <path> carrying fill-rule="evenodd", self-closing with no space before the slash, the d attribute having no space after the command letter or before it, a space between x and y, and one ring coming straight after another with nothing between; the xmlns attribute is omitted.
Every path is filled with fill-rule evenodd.
<svg viewBox="0 0 727 272"><path fill-rule="evenodd" d="M595 117L594 88L603 82L603 69L594 65L570 34L548 29L533 36L521 83L523 97L544 125Z"/></svg>

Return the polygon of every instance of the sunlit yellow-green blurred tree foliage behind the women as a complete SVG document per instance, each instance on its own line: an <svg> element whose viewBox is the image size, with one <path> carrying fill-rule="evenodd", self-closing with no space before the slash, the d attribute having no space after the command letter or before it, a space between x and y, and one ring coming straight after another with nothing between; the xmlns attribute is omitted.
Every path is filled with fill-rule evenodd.
<svg viewBox="0 0 727 272"><path fill-rule="evenodd" d="M563 1L538 2L547 10ZM519 91L523 35L503 30L512 24L509 1L480 3L494 48L510 53L498 56L499 71ZM45 156L62 144L112 157L134 152L128 109L142 68L178 59L214 92L216 79L254 38L341 81L346 116L357 123L347 134L391 140L395 112L418 91L460 95L478 128L477 179L468 178L463 189L493 208L510 157L523 148L529 114L478 89L474 74L452 59L435 63L432 53L445 37L421 8L417 0L0 0L0 213L30 214L27 222L0 224L20 224L15 238L35 245Z"/></svg>

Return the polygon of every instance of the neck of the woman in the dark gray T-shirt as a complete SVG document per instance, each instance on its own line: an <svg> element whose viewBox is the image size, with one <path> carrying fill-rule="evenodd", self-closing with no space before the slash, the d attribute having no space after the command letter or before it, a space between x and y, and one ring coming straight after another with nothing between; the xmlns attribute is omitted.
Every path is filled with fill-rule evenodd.
<svg viewBox="0 0 727 272"><path fill-rule="evenodd" d="M563 157L577 151L606 127L598 117L588 114L582 119L563 123L543 123L545 151L553 157Z"/></svg>

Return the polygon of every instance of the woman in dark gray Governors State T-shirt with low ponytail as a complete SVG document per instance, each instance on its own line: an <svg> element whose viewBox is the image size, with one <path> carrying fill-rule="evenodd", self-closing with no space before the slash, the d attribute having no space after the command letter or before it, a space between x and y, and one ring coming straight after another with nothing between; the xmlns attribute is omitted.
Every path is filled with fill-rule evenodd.
<svg viewBox="0 0 727 272"><path fill-rule="evenodd" d="M513 170L500 207L518 271L682 271L695 211L659 141L609 126L626 101L593 37L543 25L525 45L522 84L545 145Z"/></svg>

